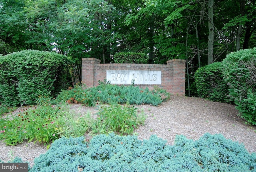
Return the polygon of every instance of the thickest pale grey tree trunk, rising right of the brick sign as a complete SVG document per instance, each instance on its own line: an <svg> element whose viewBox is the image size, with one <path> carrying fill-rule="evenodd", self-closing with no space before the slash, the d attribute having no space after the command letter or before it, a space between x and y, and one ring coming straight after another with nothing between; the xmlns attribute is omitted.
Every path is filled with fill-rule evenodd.
<svg viewBox="0 0 256 172"><path fill-rule="evenodd" d="M214 0L208 2L208 64L213 62L213 45L214 45L214 24L213 24L213 3Z"/></svg>

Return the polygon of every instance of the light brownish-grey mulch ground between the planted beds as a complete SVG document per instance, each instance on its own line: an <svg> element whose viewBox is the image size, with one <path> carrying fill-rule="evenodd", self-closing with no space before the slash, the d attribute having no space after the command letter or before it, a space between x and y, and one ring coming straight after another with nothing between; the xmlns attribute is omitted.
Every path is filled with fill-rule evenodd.
<svg viewBox="0 0 256 172"><path fill-rule="evenodd" d="M134 132L138 139L149 139L152 134L173 144L175 136L182 134L197 140L206 132L223 134L225 138L244 144L248 152L256 152L256 126L249 126L238 116L235 106L211 102L202 98L172 96L160 106L140 105L139 112L147 116L145 125ZM90 112L94 116L96 108L70 105L70 110L77 114ZM24 142L17 146L6 146L0 141L0 159L7 162L18 156L33 165L33 160L47 151L46 146Z"/></svg>

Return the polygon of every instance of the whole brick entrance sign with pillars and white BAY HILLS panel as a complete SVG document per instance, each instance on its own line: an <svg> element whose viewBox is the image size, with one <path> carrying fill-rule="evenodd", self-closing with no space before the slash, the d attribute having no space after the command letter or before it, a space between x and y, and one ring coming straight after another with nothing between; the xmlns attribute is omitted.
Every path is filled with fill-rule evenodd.
<svg viewBox="0 0 256 172"><path fill-rule="evenodd" d="M82 58L82 83L98 86L105 79L110 84L162 88L172 95L185 96L186 60L172 59L166 64L101 64L96 58ZM134 80L134 82L133 82Z"/></svg>

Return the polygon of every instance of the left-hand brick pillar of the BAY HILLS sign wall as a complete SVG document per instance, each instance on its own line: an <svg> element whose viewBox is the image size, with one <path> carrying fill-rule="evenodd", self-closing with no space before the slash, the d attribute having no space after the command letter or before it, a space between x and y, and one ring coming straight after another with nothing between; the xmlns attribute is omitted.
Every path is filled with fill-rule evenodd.
<svg viewBox="0 0 256 172"><path fill-rule="evenodd" d="M87 87L94 86L94 67L95 64L100 64L97 58L82 58L82 83Z"/></svg>

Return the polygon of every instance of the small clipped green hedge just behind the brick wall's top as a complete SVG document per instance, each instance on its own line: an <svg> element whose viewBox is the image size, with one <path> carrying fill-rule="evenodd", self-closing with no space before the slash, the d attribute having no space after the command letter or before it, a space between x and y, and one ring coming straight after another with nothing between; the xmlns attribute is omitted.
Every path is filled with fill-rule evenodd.
<svg viewBox="0 0 256 172"><path fill-rule="evenodd" d="M148 63L148 56L139 52L118 52L114 55L114 63Z"/></svg>

